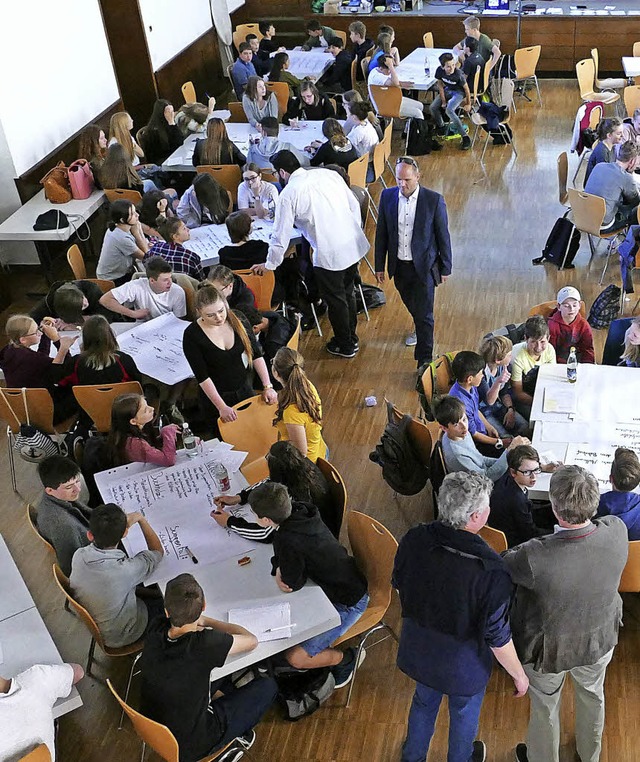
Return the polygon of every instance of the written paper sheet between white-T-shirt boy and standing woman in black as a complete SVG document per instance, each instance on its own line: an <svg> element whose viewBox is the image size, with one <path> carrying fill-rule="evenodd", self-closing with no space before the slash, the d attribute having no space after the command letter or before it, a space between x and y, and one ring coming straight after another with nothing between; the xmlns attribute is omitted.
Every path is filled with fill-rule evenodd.
<svg viewBox="0 0 640 762"><path fill-rule="evenodd" d="M182 351L188 325L169 312L122 334L118 346L133 357L141 373L172 386L193 375Z"/></svg>

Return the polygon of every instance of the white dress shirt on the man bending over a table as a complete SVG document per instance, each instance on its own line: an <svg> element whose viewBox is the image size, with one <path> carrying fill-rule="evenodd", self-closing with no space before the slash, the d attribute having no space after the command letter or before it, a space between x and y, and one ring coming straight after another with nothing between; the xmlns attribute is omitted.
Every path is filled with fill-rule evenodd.
<svg viewBox="0 0 640 762"><path fill-rule="evenodd" d="M369 250L360 221L360 205L337 172L296 169L278 196L267 270L282 264L294 225L311 244L315 267L346 270Z"/></svg>

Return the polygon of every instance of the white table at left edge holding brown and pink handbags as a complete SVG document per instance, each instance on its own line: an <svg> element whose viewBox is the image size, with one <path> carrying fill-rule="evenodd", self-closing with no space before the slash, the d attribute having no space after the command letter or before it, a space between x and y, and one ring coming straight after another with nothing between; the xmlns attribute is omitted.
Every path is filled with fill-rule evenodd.
<svg viewBox="0 0 640 762"><path fill-rule="evenodd" d="M33 241L38 250L45 275L51 279L51 255L49 241L68 241L77 228L95 214L105 199L104 191L94 192L82 200L72 199L67 204L52 204L44 196L44 190L27 201L24 206L0 224L0 241ZM36 218L51 209L59 209L70 218L72 224L59 230L34 230Z"/></svg>

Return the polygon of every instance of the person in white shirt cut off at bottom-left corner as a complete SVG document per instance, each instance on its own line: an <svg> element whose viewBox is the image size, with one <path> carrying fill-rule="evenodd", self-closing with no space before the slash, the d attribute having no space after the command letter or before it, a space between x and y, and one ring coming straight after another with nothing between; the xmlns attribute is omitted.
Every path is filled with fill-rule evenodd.
<svg viewBox="0 0 640 762"><path fill-rule="evenodd" d="M36 664L14 678L0 677L0 759L18 762L44 743L55 762L53 705L82 679L79 664Z"/></svg>

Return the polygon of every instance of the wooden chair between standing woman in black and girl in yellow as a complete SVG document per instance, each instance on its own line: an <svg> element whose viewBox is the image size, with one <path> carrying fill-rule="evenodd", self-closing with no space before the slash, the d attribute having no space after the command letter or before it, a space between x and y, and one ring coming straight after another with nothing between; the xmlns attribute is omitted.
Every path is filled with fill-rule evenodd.
<svg viewBox="0 0 640 762"><path fill-rule="evenodd" d="M265 456L271 445L278 441L278 430L273 425L276 408L267 405L261 395L256 394L238 402L233 409L238 415L235 421L218 421L220 437L236 450L248 453L244 462L251 463Z"/></svg>

